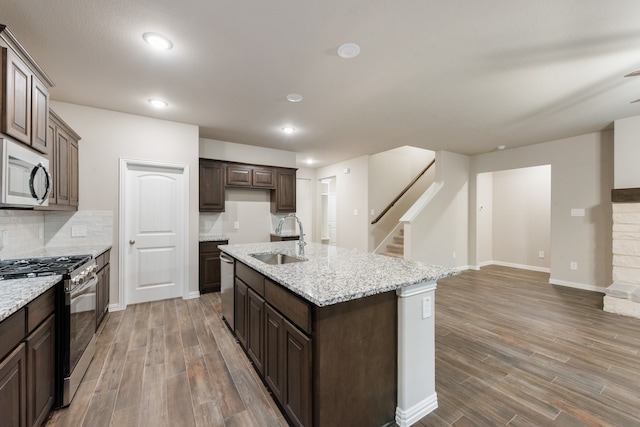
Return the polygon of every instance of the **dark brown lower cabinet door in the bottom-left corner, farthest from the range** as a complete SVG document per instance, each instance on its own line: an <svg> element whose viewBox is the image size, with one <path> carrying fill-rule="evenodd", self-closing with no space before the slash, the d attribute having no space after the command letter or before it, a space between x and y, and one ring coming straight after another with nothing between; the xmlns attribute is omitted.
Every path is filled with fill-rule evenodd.
<svg viewBox="0 0 640 427"><path fill-rule="evenodd" d="M27 355L24 343L0 361L0 414L2 425L27 425Z"/></svg>

